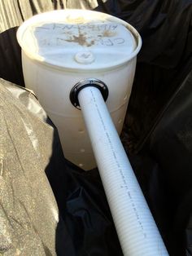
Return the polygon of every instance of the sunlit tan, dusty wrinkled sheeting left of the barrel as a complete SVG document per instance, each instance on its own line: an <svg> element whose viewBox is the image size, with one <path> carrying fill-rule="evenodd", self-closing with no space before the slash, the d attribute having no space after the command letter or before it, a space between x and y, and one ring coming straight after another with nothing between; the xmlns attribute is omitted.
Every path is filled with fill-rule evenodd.
<svg viewBox="0 0 192 256"><path fill-rule="evenodd" d="M45 174L53 128L32 94L2 79L0 127L0 254L56 255L59 211Z"/></svg>

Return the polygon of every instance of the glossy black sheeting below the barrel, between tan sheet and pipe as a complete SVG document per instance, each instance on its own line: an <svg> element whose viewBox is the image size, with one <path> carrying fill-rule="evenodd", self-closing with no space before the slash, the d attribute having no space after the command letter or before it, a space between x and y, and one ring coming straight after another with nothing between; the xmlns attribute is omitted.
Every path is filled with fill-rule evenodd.
<svg viewBox="0 0 192 256"><path fill-rule="evenodd" d="M122 255L98 170L85 172L64 159L56 129L52 152L46 175L59 206L57 254Z"/></svg>

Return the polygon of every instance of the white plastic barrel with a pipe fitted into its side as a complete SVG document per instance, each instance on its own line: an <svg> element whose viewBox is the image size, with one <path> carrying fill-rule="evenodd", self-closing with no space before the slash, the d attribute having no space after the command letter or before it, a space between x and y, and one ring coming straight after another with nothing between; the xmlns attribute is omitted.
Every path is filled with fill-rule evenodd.
<svg viewBox="0 0 192 256"><path fill-rule="evenodd" d="M109 90L107 108L120 134L142 40L130 24L96 11L35 15L17 32L26 87L37 95L59 130L65 157L96 166L81 110L69 99L77 82L97 78Z"/></svg>

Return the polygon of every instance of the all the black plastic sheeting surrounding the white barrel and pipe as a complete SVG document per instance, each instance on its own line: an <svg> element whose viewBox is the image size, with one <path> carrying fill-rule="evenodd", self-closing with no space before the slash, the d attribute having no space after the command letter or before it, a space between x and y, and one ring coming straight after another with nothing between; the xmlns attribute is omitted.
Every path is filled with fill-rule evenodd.
<svg viewBox="0 0 192 256"><path fill-rule="evenodd" d="M17 1L19 20L28 16L24 2ZM142 36L121 139L169 254L192 255L192 1L93 2L98 6L76 5L116 15ZM43 6L32 0L28 13L74 5L47 1ZM15 32L10 28L0 34L0 77L24 86ZM98 170L85 173L72 166L63 158L56 131L54 138L46 174L59 205L58 254L121 255Z"/></svg>

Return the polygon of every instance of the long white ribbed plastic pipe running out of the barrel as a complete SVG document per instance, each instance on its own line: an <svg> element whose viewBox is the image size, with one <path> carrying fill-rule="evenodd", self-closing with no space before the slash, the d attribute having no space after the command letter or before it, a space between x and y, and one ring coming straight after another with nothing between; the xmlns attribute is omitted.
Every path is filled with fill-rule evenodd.
<svg viewBox="0 0 192 256"><path fill-rule="evenodd" d="M78 95L124 255L168 255L100 91Z"/></svg>

